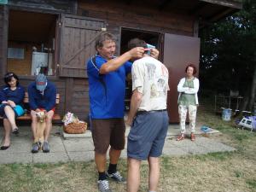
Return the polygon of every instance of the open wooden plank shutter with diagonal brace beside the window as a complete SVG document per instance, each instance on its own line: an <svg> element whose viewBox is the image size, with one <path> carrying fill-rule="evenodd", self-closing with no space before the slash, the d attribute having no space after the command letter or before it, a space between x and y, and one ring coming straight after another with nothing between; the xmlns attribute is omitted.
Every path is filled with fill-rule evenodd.
<svg viewBox="0 0 256 192"><path fill-rule="evenodd" d="M104 31L104 20L61 15L60 77L87 78L85 62L96 54L96 37Z"/></svg>

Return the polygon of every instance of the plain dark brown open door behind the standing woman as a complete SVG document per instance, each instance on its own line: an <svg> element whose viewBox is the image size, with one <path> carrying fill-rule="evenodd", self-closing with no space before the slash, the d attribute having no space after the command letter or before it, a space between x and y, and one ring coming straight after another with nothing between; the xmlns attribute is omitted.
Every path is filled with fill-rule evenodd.
<svg viewBox="0 0 256 192"><path fill-rule="evenodd" d="M165 34L164 64L169 70L168 114L171 123L179 122L177 112L177 84L185 77L185 67L195 64L199 71L200 38Z"/></svg>

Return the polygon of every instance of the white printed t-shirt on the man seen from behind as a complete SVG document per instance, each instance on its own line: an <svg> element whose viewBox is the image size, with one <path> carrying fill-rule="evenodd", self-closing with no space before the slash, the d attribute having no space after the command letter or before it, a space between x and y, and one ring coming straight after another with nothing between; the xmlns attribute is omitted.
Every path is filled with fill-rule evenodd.
<svg viewBox="0 0 256 192"><path fill-rule="evenodd" d="M139 111L166 109L169 73L164 64L146 56L133 63L131 75L132 90L143 94Z"/></svg>

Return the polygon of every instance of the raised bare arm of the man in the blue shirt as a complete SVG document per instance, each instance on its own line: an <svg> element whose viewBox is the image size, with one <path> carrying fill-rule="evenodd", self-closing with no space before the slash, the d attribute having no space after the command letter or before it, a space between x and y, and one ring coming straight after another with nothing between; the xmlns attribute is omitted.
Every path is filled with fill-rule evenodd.
<svg viewBox="0 0 256 192"><path fill-rule="evenodd" d="M117 70L120 66L122 66L126 61L131 60L132 58L141 58L143 57L144 49L143 47L133 48L123 55L116 57L108 62L104 63L100 68L101 74L106 74Z"/></svg>

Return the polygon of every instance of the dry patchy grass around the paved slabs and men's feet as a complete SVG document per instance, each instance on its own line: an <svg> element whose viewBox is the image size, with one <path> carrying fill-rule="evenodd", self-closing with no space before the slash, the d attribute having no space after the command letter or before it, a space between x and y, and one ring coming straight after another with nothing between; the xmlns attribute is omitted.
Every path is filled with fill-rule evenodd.
<svg viewBox="0 0 256 192"><path fill-rule="evenodd" d="M256 191L256 135L241 131L232 122L201 106L198 121L218 129L223 134L206 136L237 148L233 153L213 153L161 158L159 191ZM1 157L0 157L1 158ZM119 163L126 173L126 160ZM143 162L141 192L147 191L148 166ZM4 192L94 192L96 187L94 162L61 164L0 165L0 191ZM111 182L115 192L125 191L125 185Z"/></svg>

